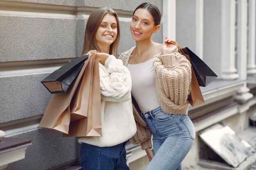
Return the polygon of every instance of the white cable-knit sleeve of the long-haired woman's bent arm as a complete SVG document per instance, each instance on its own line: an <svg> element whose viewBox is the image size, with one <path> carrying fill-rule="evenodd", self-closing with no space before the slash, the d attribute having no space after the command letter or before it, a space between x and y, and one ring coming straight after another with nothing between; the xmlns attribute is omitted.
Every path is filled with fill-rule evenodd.
<svg viewBox="0 0 256 170"><path fill-rule="evenodd" d="M123 62L110 55L105 65L99 64L101 99L110 102L126 102L130 99L132 81Z"/></svg>

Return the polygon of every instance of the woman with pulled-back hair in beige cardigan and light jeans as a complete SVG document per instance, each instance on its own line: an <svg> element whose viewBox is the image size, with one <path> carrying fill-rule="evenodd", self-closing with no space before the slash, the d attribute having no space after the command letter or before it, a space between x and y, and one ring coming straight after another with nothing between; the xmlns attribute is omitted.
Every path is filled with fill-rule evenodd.
<svg viewBox="0 0 256 170"><path fill-rule="evenodd" d="M172 45L174 41L166 38L164 44L158 44L151 40L160 20L155 5L139 5L130 22L136 46L119 57L132 77L137 133L131 141L146 150L150 159L146 170L182 170L182 160L195 139L195 128L187 115L191 65Z"/></svg>

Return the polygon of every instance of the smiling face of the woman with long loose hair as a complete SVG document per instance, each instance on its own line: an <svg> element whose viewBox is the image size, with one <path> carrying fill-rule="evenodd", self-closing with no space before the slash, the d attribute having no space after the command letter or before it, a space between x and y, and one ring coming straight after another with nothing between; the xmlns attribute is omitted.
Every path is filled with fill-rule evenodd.
<svg viewBox="0 0 256 170"><path fill-rule="evenodd" d="M99 46L112 44L117 38L117 20L114 15L108 13L103 17L97 33L96 42Z"/></svg>

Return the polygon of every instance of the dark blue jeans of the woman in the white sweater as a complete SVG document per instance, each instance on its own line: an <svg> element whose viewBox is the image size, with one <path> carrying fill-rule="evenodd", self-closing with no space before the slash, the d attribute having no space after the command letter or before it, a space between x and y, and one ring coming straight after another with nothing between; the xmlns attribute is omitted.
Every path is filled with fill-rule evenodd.
<svg viewBox="0 0 256 170"><path fill-rule="evenodd" d="M125 150L128 141L110 147L82 143L80 157L83 170L129 170Z"/></svg>

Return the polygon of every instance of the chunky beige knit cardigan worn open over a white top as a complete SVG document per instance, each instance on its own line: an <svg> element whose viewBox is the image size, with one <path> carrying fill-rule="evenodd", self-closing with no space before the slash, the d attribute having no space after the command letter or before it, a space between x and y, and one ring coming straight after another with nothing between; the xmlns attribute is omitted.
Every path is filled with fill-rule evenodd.
<svg viewBox="0 0 256 170"><path fill-rule="evenodd" d="M132 49L122 53L119 59L127 66L132 54ZM157 99L165 113L182 114L188 113L188 95L191 91L191 64L178 50L171 54L155 55L153 66L156 76ZM151 148L151 132L146 122L141 117L139 107L132 98L133 115L137 132L131 138L133 144L141 144L142 149Z"/></svg>

